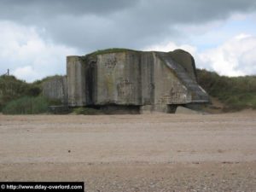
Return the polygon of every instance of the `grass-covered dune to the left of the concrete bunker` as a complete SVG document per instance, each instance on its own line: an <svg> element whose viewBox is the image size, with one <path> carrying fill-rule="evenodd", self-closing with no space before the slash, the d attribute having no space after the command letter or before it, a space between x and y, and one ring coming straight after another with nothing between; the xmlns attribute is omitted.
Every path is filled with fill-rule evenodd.
<svg viewBox="0 0 256 192"><path fill-rule="evenodd" d="M0 112L7 114L49 113L48 106L61 104L42 96L42 84L56 76L28 84L15 76L0 76Z"/></svg>

